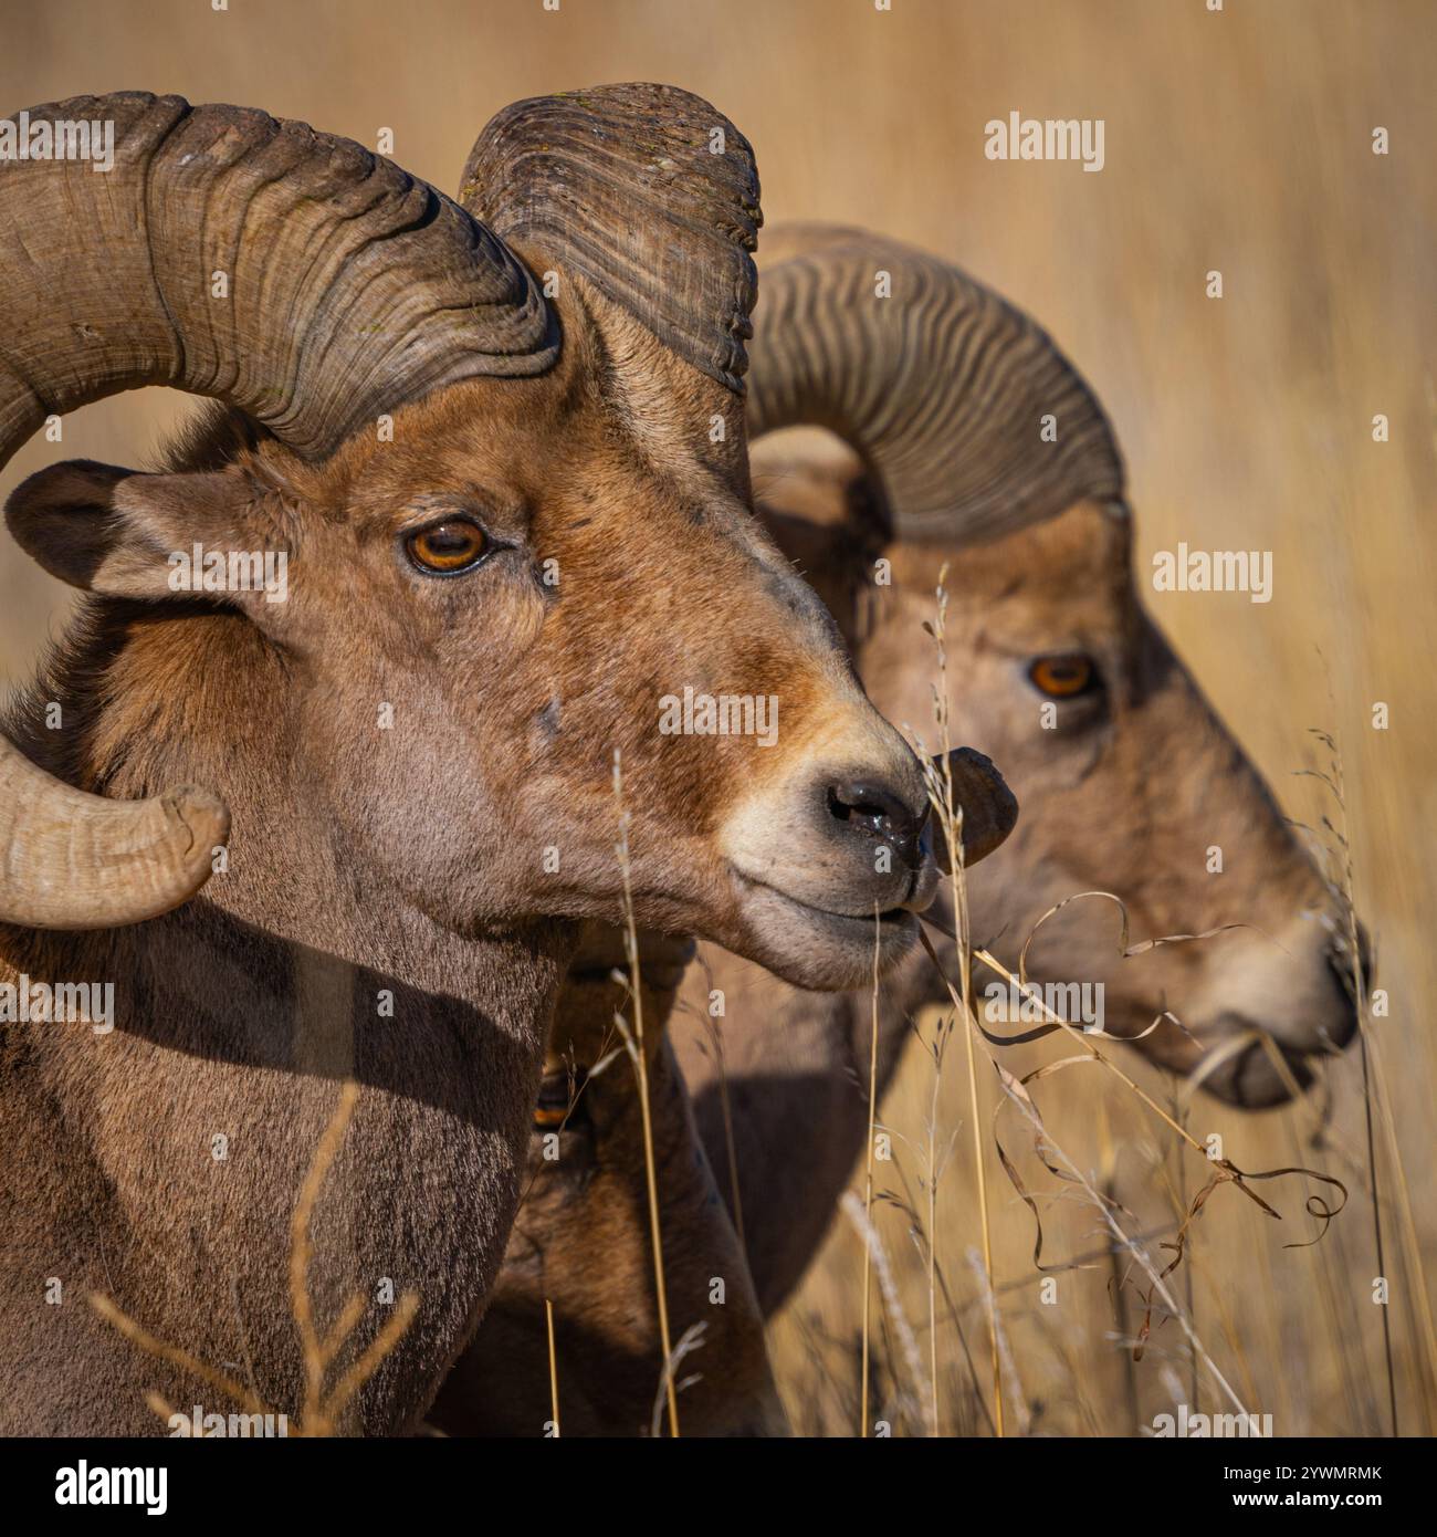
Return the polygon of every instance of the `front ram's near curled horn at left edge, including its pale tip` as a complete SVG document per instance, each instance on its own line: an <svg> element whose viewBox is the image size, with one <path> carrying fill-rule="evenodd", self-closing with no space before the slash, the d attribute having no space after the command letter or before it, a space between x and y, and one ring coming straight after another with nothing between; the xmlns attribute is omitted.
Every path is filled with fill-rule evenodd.
<svg viewBox="0 0 1437 1537"><path fill-rule="evenodd" d="M49 415L140 384L211 395L306 458L406 401L539 373L553 317L503 241L358 144L247 108L120 92L31 109L112 123L109 171L0 161L0 467ZM134 922L211 871L204 790L105 801L0 739L0 921Z"/></svg>

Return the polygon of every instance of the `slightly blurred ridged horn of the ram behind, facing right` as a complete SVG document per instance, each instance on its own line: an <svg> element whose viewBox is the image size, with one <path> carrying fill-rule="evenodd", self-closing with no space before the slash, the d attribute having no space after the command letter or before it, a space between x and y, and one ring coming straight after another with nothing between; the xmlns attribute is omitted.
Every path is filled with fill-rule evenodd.
<svg viewBox="0 0 1437 1537"><path fill-rule="evenodd" d="M765 244L750 440L801 423L836 432L908 539L984 539L1082 498L1122 500L1102 406L1022 310L864 231L799 224ZM891 297L878 297L879 272ZM1056 441L1042 437L1045 417Z"/></svg>

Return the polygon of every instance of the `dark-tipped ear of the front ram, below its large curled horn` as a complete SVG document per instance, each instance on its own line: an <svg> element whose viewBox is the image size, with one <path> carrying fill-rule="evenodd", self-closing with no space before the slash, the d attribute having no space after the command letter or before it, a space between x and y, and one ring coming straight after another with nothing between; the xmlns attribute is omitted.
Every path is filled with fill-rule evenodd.
<svg viewBox="0 0 1437 1537"><path fill-rule="evenodd" d="M247 552L252 487L235 470L141 475L68 460L23 481L5 506L15 543L51 576L114 598L175 598L194 592L243 604L252 589L206 587L194 552Z"/></svg>

